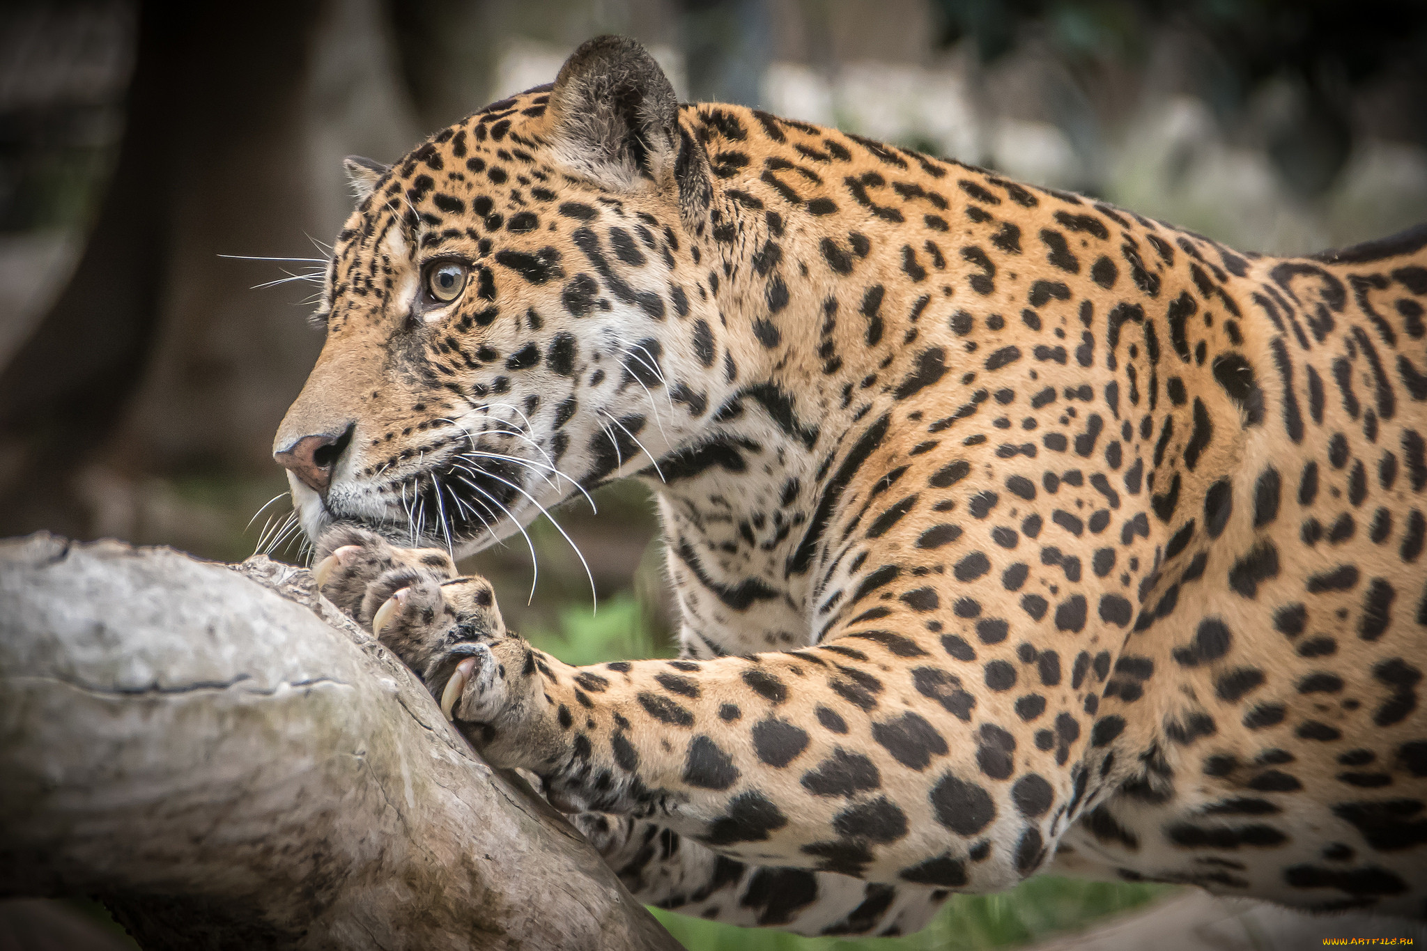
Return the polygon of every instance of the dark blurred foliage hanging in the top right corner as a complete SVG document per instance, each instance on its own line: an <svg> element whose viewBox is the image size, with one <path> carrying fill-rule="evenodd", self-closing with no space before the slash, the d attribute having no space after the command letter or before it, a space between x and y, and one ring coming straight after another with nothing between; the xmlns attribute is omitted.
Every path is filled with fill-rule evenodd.
<svg viewBox="0 0 1427 951"><path fill-rule="evenodd" d="M1353 145L1353 96L1388 80L1416 115L1393 138L1427 144L1427 3L1421 0L935 0L940 43L970 38L983 61L1010 53L1027 29L1072 66L1143 63L1154 34L1184 27L1206 37L1224 66L1199 90L1220 117L1241 110L1267 80L1300 90L1296 114L1264 130L1287 184L1316 195L1333 184Z"/></svg>

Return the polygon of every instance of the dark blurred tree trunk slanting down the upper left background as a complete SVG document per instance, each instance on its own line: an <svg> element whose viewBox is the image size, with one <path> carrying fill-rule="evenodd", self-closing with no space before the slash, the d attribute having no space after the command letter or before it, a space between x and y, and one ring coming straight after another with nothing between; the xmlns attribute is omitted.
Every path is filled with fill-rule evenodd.
<svg viewBox="0 0 1427 951"><path fill-rule="evenodd" d="M233 157L294 111L317 10L141 4L126 128L93 231L64 292L0 371L0 535L88 530L74 478L111 449L153 361L187 237L176 211L218 198L193 191L211 185L205 168L234 171L233 190L264 184L244 181ZM251 195L254 217L273 208L264 197Z"/></svg>

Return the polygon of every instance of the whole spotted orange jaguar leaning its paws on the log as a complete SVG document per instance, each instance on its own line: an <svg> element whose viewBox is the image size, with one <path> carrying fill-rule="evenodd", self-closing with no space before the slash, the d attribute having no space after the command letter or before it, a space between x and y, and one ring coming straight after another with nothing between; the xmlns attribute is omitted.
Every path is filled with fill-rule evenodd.
<svg viewBox="0 0 1427 951"><path fill-rule="evenodd" d="M639 901L1427 915L1427 227L1241 254L618 37L347 167L274 442L318 582ZM569 666L455 559L622 478L681 656Z"/></svg>

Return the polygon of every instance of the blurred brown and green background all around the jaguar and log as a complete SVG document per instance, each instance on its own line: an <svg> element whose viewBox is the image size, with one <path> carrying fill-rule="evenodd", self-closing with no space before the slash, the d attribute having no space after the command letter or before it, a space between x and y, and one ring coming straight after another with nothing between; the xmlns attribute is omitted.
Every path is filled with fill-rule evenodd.
<svg viewBox="0 0 1427 951"><path fill-rule="evenodd" d="M391 161L549 81L602 31L641 38L684 98L836 124L1243 250L1306 252L1427 220L1416 0L251 0L181 13L10 0L0 535L117 536L224 560L270 540L285 500L250 519L285 489L271 435L321 346L301 275L351 207L341 158ZM668 654L649 499L615 486L598 505L557 513L594 569L596 613L544 520L529 603L519 536L465 567L567 660ZM298 556L290 539L273 553ZM1163 891L1037 878L956 897L916 937L863 944L661 920L696 950L999 948ZM0 903L0 950L80 947L83 914L34 908Z"/></svg>

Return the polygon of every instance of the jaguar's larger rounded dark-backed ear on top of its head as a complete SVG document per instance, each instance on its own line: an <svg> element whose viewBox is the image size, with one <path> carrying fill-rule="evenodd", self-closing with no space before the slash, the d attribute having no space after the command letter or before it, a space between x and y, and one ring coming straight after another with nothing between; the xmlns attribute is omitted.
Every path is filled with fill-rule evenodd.
<svg viewBox="0 0 1427 951"><path fill-rule="evenodd" d="M678 187L702 192L708 160L679 128L679 101L654 57L636 41L601 36L575 50L549 93L555 155L611 191Z"/></svg>

